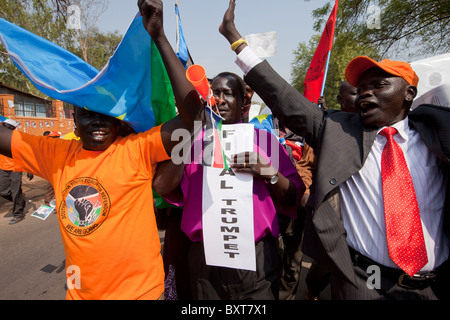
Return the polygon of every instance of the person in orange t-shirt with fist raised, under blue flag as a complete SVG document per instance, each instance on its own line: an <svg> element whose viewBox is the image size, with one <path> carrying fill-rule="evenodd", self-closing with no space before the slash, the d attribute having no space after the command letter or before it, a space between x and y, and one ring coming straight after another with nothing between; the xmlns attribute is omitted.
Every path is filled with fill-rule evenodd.
<svg viewBox="0 0 450 320"><path fill-rule="evenodd" d="M139 134L120 120L75 108L80 140L0 128L0 154L16 170L50 181L66 252L67 299L158 299L164 291L153 210L156 164L169 159L175 129L192 130L203 104L168 42L160 0L139 1L143 23L170 77L179 116Z"/></svg>

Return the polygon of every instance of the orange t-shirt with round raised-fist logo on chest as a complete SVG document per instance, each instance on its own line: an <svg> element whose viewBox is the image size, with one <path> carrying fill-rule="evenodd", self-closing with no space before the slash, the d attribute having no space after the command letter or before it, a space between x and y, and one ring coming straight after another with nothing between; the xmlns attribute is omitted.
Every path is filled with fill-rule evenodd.
<svg viewBox="0 0 450 320"><path fill-rule="evenodd" d="M55 189L67 299L157 299L163 293L152 193L156 163L169 159L160 131L118 137L99 152L77 140L14 132L16 170Z"/></svg>

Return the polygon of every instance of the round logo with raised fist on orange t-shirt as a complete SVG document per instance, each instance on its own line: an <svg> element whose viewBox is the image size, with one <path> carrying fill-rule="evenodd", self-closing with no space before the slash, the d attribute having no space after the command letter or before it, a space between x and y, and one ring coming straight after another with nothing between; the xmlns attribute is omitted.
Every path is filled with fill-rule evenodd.
<svg viewBox="0 0 450 320"><path fill-rule="evenodd" d="M93 178L77 178L66 184L58 210L67 232L86 236L108 217L110 200L102 185Z"/></svg>

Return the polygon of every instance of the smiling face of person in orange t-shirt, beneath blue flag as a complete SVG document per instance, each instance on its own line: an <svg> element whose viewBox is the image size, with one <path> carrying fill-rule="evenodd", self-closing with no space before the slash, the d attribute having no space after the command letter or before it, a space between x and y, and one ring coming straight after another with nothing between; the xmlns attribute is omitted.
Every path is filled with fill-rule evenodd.
<svg viewBox="0 0 450 320"><path fill-rule="evenodd" d="M76 108L74 121L83 148L90 151L106 150L120 128L120 120L83 108Z"/></svg>

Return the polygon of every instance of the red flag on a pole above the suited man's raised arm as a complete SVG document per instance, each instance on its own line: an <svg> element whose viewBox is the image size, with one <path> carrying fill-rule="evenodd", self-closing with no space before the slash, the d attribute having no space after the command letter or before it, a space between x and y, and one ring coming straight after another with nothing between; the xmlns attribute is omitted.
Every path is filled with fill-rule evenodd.
<svg viewBox="0 0 450 320"><path fill-rule="evenodd" d="M319 45L314 53L308 72L306 73L303 85L305 90L303 95L311 102L317 103L322 93L322 85L325 81L325 68L329 59L329 53L333 46L334 26L336 24L336 12L338 7L338 0L334 4L328 18L325 30L320 38Z"/></svg>

